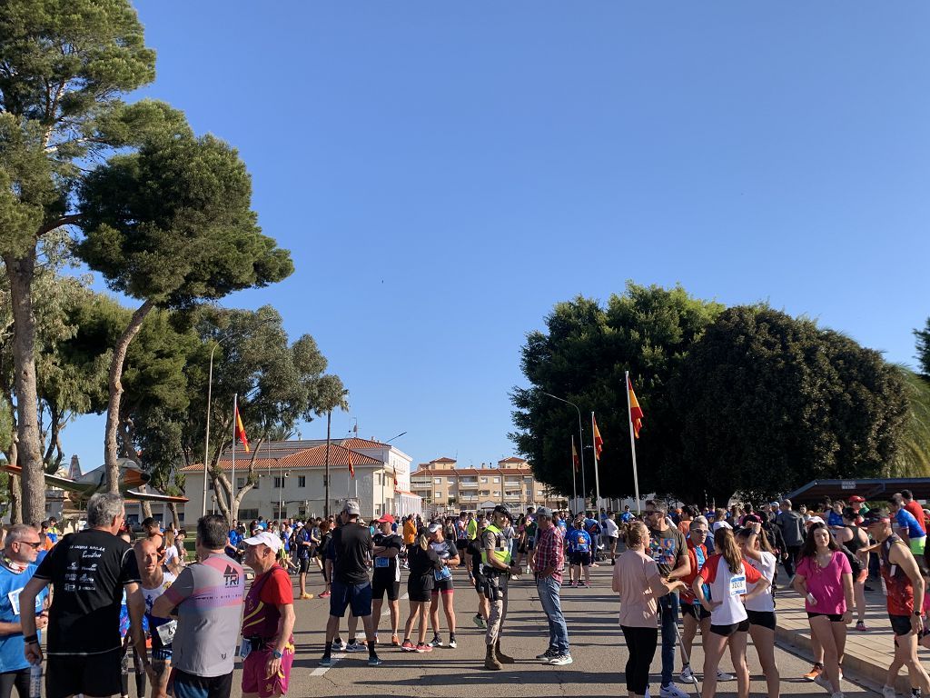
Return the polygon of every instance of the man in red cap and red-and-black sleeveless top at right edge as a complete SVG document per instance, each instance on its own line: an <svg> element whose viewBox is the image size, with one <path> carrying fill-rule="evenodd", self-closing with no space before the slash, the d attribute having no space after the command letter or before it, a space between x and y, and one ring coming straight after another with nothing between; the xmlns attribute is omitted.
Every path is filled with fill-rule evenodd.
<svg viewBox="0 0 930 698"><path fill-rule="evenodd" d="M895 695L898 671L906 666L911 694L930 694L930 678L917 657L918 640L923 634L921 608L926 592L917 560L900 537L892 532L888 512L873 509L866 514L865 523L879 544L882 581L887 589L888 618L895 632L895 659L888 668L882 693L886 698Z"/></svg>

